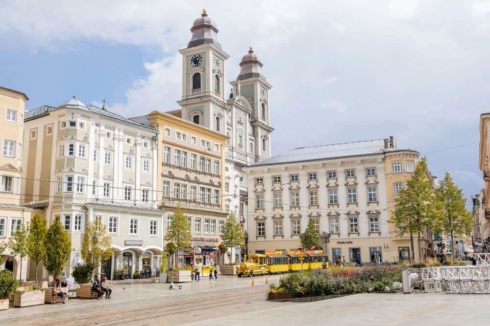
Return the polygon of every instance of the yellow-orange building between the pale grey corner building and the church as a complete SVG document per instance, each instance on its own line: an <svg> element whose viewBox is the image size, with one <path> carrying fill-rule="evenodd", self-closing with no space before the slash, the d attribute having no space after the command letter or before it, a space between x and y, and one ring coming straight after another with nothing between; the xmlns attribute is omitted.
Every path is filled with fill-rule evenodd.
<svg viewBox="0 0 490 326"><path fill-rule="evenodd" d="M179 251L179 265L200 262L209 266L215 261L220 264L221 258L228 262L232 252L221 257L219 250L220 234L227 217L223 194L228 137L174 114L153 111L133 118L158 130L160 154L155 163L164 233L179 205L192 232L192 246Z"/></svg>

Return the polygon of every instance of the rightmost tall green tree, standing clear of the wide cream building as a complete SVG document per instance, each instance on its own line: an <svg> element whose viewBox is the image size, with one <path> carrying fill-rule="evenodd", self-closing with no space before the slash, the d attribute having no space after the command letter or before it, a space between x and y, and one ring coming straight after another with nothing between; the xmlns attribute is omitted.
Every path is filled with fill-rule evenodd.
<svg viewBox="0 0 490 326"><path fill-rule="evenodd" d="M453 178L447 172L444 180L439 182L437 200L442 209L438 229L451 235L451 250L453 257L456 257L454 235L471 234L473 216L465 207L463 191L454 184Z"/></svg>

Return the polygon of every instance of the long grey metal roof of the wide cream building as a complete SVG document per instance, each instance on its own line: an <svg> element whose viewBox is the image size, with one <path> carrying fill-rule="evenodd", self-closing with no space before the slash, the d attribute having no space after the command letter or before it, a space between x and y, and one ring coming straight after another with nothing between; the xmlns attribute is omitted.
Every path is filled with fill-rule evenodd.
<svg viewBox="0 0 490 326"><path fill-rule="evenodd" d="M335 159L340 157L364 156L397 151L396 148L385 149L384 139L366 140L353 143L331 144L311 147L299 147L282 154L272 156L249 167Z"/></svg>

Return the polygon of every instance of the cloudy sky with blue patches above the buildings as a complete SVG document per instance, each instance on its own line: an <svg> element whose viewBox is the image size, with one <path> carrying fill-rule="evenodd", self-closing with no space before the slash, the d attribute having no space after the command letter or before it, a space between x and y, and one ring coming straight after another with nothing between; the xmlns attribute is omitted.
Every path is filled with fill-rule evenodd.
<svg viewBox="0 0 490 326"><path fill-rule="evenodd" d="M72 95L129 117L178 109L178 49L204 5L228 82L250 44L264 64L273 154L393 135L468 198L483 188L490 1L2 0L0 85L26 109Z"/></svg>

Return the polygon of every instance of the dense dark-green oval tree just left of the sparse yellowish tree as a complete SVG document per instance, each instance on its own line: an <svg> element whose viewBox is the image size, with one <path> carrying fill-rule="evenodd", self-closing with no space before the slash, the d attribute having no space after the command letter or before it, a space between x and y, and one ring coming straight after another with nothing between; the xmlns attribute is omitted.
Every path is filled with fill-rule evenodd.
<svg viewBox="0 0 490 326"><path fill-rule="evenodd" d="M53 278L63 271L66 262L70 258L72 241L70 236L60 223L60 217L56 216L48 229L45 241L46 255L44 256L44 268Z"/></svg>

